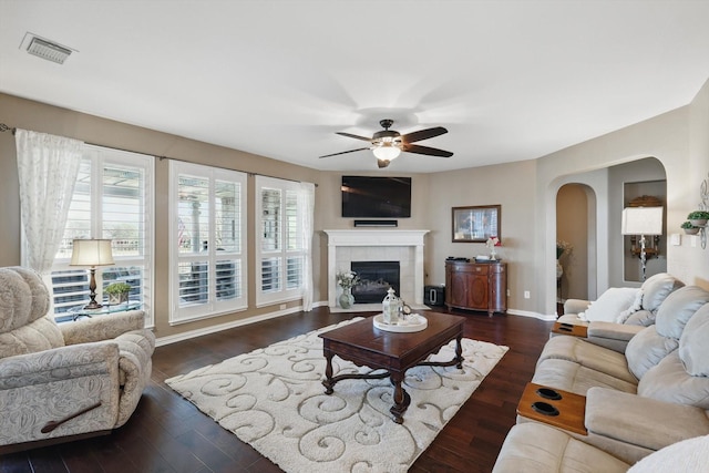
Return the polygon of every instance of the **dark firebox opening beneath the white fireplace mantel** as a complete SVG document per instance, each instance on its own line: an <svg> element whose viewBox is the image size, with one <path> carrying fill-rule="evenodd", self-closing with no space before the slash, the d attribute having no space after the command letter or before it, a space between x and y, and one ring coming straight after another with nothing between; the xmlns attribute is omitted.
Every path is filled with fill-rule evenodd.
<svg viewBox="0 0 709 473"><path fill-rule="evenodd" d="M399 261L351 261L350 267L360 279L352 288L357 304L381 302L390 287L397 296L401 295Z"/></svg>

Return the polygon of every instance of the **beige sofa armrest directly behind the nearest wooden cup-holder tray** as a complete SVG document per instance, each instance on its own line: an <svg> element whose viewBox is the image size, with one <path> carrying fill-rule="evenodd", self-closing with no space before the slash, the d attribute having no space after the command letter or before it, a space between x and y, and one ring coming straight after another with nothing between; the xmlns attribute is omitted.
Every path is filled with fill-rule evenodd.
<svg viewBox="0 0 709 473"><path fill-rule="evenodd" d="M589 434L648 450L709 434L702 409L606 388L588 390L585 423Z"/></svg>

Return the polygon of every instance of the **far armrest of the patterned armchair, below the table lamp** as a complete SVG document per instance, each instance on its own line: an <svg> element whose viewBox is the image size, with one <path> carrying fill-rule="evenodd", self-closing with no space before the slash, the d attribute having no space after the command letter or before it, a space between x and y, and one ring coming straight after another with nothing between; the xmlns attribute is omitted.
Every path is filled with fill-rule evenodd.
<svg viewBox="0 0 709 473"><path fill-rule="evenodd" d="M59 328L64 337L64 343L76 345L111 340L121 333L142 329L144 326L143 310L127 310L60 323Z"/></svg>

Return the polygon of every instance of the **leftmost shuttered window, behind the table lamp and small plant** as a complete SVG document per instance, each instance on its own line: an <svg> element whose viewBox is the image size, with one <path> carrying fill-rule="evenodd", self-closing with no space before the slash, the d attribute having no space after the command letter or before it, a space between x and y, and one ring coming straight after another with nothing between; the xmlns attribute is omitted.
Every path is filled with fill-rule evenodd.
<svg viewBox="0 0 709 473"><path fill-rule="evenodd" d="M96 268L96 300L113 281L131 285L152 325L154 158L85 145L66 226L52 267L54 313L69 319L89 300L89 271L69 266L74 238L112 240L115 266Z"/></svg>

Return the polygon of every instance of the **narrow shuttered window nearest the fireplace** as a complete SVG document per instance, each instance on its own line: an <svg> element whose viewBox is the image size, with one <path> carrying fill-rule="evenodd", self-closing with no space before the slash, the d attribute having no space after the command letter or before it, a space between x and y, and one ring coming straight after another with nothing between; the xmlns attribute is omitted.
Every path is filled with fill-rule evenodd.
<svg viewBox="0 0 709 473"><path fill-rule="evenodd" d="M302 296L305 264L300 184L257 176L256 189L256 305L298 299Z"/></svg>

